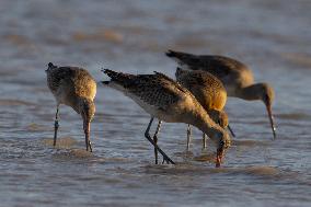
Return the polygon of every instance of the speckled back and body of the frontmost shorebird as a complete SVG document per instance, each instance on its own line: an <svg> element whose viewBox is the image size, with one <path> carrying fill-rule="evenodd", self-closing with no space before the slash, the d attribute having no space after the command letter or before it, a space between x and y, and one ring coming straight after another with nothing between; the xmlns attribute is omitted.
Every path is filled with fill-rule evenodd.
<svg viewBox="0 0 311 207"><path fill-rule="evenodd" d="M188 108L199 105L187 89L165 74L156 72L134 76L112 70L105 70L105 73L112 78L105 84L123 91L146 112L164 122L181 122L178 115L185 108L191 111Z"/></svg>

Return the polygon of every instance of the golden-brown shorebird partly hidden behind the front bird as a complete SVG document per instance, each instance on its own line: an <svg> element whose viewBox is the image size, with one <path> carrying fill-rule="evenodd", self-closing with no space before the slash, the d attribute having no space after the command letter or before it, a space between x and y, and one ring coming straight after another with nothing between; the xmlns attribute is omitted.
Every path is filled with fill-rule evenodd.
<svg viewBox="0 0 311 207"><path fill-rule="evenodd" d="M175 77L178 83L189 90L200 105L206 110L211 119L222 128L228 127L232 136L233 131L228 125L228 115L223 111L227 102L227 91L219 79L203 70L176 69ZM191 142L191 125L187 128L187 150ZM203 134L203 148L206 148L206 135Z"/></svg>

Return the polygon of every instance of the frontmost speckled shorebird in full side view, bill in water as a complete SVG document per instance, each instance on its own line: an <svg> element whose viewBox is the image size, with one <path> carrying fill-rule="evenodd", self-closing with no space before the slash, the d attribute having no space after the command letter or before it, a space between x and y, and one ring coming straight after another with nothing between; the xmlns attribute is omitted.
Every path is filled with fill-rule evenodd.
<svg viewBox="0 0 311 207"><path fill-rule="evenodd" d="M186 123L199 128L216 142L216 166L220 166L224 149L230 146L230 137L208 116L204 107L187 89L160 72L138 76L115 72L108 69L103 70L103 72L111 78L110 81L103 81L104 84L123 92L151 115L145 137L153 145L156 151L159 150L164 160L174 163L158 147L157 139L152 140L149 135L154 117L159 119L156 137L162 120ZM157 161L157 154L154 156Z"/></svg>

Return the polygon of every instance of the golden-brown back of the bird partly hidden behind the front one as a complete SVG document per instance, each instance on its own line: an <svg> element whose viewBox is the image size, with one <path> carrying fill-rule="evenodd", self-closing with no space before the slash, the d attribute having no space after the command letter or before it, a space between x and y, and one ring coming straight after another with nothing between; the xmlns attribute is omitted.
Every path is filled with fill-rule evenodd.
<svg viewBox="0 0 311 207"><path fill-rule="evenodd" d="M206 111L221 111L227 102L227 92L219 79L207 71L187 71L177 68L176 80L188 89Z"/></svg>

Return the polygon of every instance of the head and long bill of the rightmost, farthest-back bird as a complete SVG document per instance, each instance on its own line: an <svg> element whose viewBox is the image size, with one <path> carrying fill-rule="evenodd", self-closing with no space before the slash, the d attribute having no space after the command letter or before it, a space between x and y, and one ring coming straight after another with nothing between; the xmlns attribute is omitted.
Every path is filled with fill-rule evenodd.
<svg viewBox="0 0 311 207"><path fill-rule="evenodd" d="M273 112L272 112L272 105L274 102L275 93L274 93L273 88L269 84L260 83L260 85L261 85L261 100L266 105L273 135L274 135L274 138L276 138L276 127L275 127Z"/></svg>

